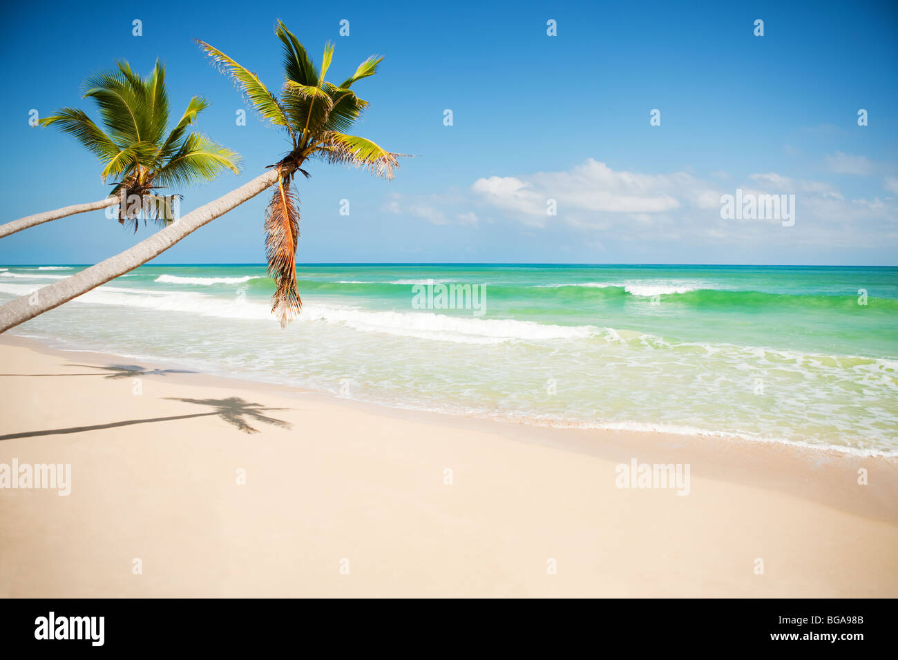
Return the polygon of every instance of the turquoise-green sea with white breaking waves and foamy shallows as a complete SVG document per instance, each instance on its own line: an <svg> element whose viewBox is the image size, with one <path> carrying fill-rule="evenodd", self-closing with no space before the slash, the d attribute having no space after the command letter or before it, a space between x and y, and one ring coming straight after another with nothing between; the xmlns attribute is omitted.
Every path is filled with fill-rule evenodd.
<svg viewBox="0 0 898 660"><path fill-rule="evenodd" d="M2 267L0 302L79 268ZM137 268L11 332L399 407L898 455L898 268L298 275L304 308L286 330L264 266L202 265Z"/></svg>

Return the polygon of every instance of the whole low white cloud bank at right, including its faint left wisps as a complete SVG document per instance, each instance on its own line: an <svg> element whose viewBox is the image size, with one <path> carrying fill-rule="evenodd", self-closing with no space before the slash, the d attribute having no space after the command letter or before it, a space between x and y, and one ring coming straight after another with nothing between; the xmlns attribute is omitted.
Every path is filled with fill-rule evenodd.
<svg viewBox="0 0 898 660"><path fill-rule="evenodd" d="M851 163L856 169L858 163L867 163L845 154L831 158L842 167ZM887 177L884 186L898 189L898 179ZM735 195L736 189L759 196L794 194L796 224L784 227L776 218L722 218L720 198ZM846 190L850 192L843 195L832 183L780 172L757 172L724 183L710 177L702 180L685 171L615 171L588 159L560 172L482 177L468 190L394 194L384 209L431 224L482 227L488 232L495 227L487 228L484 223L512 222L517 229L506 227L504 231L535 242L550 240L546 238L550 227L572 245L601 241L610 255L621 246L651 254L653 246L674 243L701 245L710 253L763 249L783 242L809 250L836 244L864 247L869 246L871 233L892 242L889 232L898 220L898 195L863 198L859 191ZM546 212L549 199L557 203L556 216Z"/></svg>

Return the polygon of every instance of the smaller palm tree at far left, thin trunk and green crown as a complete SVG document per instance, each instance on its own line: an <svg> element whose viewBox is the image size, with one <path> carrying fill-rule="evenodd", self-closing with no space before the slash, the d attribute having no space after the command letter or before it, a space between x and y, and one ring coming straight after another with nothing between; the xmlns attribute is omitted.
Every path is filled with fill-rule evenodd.
<svg viewBox="0 0 898 660"><path fill-rule="evenodd" d="M96 101L103 128L84 112L63 108L40 119L41 126L56 126L74 136L100 159L103 181L118 179L107 198L63 207L0 225L0 238L35 224L119 204L119 223L129 222L137 230L138 218L157 224L172 221L174 195L156 195L154 190L212 180L229 169L239 174L239 158L207 136L188 132L208 101L194 96L174 128L169 124L169 98L165 89L165 66L156 60L145 78L131 71L128 62L118 69L92 75L84 81L84 96Z"/></svg>

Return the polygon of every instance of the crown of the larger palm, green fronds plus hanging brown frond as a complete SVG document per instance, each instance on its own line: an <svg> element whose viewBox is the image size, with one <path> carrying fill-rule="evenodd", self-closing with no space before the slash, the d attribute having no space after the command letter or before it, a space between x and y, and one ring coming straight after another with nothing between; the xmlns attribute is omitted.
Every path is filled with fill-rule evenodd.
<svg viewBox="0 0 898 660"><path fill-rule="evenodd" d="M397 156L401 154L388 152L365 137L346 133L368 105L350 88L362 78L374 75L383 57L368 57L341 84L330 84L324 76L330 68L333 44L324 47L319 70L283 22L277 22L276 33L284 58L284 84L279 97L269 92L258 75L205 41L196 41L219 69L233 78L260 115L286 131L292 145L289 154L271 165L277 167L277 189L265 214L269 275L276 285L272 312L283 327L302 308L296 289L299 208L290 187L295 172L308 177L302 166L311 158L364 167L389 180L393 168L399 166Z"/></svg>

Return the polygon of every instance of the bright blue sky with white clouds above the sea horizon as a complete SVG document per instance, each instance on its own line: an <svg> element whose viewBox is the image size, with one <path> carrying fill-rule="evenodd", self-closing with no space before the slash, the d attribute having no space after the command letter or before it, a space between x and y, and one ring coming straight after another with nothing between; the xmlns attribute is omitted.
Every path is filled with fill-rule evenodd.
<svg viewBox="0 0 898 660"><path fill-rule="evenodd" d="M31 128L29 111L95 111L93 72L127 59L167 66L172 114L212 102L198 128L240 152L232 173L185 189L189 211L262 172L286 139L192 42L206 40L282 83L281 18L331 78L385 57L357 84L355 131L416 154L395 180L310 165L299 262L898 264L898 5L158 2L5 5L0 44L14 90L0 104L4 218L103 197L75 141ZM132 15L133 14L133 15ZM143 36L132 35L132 20ZM349 21L349 36L339 22ZM557 22L557 36L546 22ZM764 36L753 34L764 21ZM444 125L444 110L453 126ZM660 110L661 125L650 126ZM858 109L868 125L858 126ZM794 194L795 224L725 220L736 189ZM265 195L155 263L261 262ZM546 214L555 199L557 215ZM349 200L349 216L339 215ZM0 241L0 263L94 263L145 238L101 212Z"/></svg>

